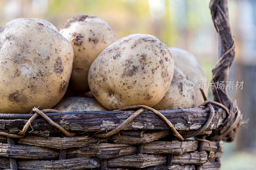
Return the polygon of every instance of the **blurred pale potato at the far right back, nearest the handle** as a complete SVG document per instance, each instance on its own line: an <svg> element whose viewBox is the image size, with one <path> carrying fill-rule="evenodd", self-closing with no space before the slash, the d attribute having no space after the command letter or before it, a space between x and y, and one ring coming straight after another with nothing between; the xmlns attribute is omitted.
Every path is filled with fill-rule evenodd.
<svg viewBox="0 0 256 170"><path fill-rule="evenodd" d="M186 76L188 76L189 80L194 82L195 84L194 89L196 90L196 96L198 98L197 105L200 105L202 102L204 102L204 98L202 96L201 91L197 89L197 82L202 81L202 82L205 82L206 84L208 83L201 63L197 60L197 58L193 54L189 53L186 50L183 50L177 47L170 47L170 50L172 51L175 65ZM203 91L207 97L208 90L206 86L205 86L205 89L203 89Z"/></svg>

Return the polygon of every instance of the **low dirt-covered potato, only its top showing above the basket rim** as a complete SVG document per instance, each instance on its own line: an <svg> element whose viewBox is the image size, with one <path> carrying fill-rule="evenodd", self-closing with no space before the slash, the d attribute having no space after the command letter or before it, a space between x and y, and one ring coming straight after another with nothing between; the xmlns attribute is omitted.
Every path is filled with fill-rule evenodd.
<svg viewBox="0 0 256 170"><path fill-rule="evenodd" d="M54 109L60 112L76 112L85 110L107 110L101 106L96 99L90 99L85 97L68 97L60 100L60 102L54 107Z"/></svg>

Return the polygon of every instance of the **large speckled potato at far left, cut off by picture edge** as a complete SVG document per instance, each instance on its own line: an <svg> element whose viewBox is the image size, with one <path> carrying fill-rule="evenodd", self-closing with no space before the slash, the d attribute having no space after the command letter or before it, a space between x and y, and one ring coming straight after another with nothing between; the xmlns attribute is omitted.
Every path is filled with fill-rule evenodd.
<svg viewBox="0 0 256 170"><path fill-rule="evenodd" d="M26 18L0 34L1 113L29 113L34 106L52 108L65 94L74 52L52 26L42 19Z"/></svg>

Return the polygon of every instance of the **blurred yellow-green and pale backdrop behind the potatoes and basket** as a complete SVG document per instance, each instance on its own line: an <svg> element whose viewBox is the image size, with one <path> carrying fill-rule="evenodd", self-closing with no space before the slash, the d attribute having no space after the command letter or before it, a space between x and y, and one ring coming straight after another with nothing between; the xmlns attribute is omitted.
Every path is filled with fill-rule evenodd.
<svg viewBox="0 0 256 170"><path fill-rule="evenodd" d="M97 16L113 28L117 39L133 33L151 34L169 47L179 47L194 54L202 63L208 80L218 56L218 35L209 10L210 0L0 0L0 24L13 18L42 18L57 28L77 14ZM230 79L248 76L244 67L256 64L256 2L233 0L229 3L230 24L236 42L236 60ZM240 70L240 71L238 71ZM241 70L243 74L241 73ZM239 74L240 72L240 74ZM241 76L242 74L242 76ZM237 75L240 75L237 76ZM230 90L238 104L255 98L256 89ZM255 86L255 85L254 85ZM242 97L241 93L245 93ZM213 100L212 92L209 99ZM239 105L239 106L240 106ZM246 106L244 106L246 107ZM247 108L247 107L246 107ZM225 144L222 169L256 169L256 108L241 108L249 117L248 129L241 128L233 143Z"/></svg>

